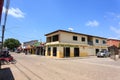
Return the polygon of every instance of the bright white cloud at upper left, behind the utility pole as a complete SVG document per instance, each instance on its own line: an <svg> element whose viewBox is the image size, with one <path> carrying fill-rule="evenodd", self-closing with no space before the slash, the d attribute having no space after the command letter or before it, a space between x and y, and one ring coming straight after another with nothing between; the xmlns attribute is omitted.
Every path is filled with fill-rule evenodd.
<svg viewBox="0 0 120 80"><path fill-rule="evenodd" d="M6 8L3 7L3 13L5 13ZM11 15L16 18L24 18L24 13L19 8L10 8L8 10L8 15Z"/></svg>

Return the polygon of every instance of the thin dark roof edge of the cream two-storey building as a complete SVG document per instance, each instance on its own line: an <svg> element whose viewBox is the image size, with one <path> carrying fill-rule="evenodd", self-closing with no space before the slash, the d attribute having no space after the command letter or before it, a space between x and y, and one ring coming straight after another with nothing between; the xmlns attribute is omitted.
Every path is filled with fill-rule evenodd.
<svg viewBox="0 0 120 80"><path fill-rule="evenodd" d="M85 36L91 36L91 37L97 37L97 38L107 39L107 38L104 38L104 37L93 36L93 35L88 35L88 34L83 34L83 33L77 33L77 32L72 32L72 31L66 31L66 30L56 30L56 31L53 31L51 33L45 34L45 36L48 36L48 35L51 35L51 34L54 34L54 33L57 33L57 32L66 32L66 33L72 33L72 34L78 34L78 35L85 35Z"/></svg>

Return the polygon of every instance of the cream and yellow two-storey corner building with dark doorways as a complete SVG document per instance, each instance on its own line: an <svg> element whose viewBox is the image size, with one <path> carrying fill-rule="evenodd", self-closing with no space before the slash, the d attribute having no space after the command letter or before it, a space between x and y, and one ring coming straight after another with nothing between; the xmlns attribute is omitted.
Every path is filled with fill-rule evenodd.
<svg viewBox="0 0 120 80"><path fill-rule="evenodd" d="M96 55L98 51L107 50L107 39L98 36L57 30L46 36L46 56L83 57Z"/></svg>

